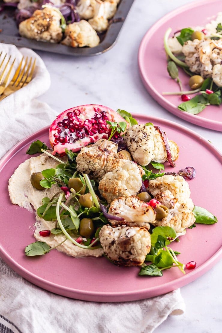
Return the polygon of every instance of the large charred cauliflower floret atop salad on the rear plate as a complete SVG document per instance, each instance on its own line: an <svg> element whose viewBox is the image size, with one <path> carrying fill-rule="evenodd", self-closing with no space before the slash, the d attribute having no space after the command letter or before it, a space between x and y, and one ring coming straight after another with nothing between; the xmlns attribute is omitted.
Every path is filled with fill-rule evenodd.
<svg viewBox="0 0 222 333"><path fill-rule="evenodd" d="M187 41L183 45L183 54L191 72L198 73L203 78L212 77L214 66L221 64L222 39Z"/></svg>

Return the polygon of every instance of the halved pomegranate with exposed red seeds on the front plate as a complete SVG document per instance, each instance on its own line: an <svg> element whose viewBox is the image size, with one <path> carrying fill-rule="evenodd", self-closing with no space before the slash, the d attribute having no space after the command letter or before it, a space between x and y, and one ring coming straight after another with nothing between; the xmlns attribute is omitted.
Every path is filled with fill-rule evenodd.
<svg viewBox="0 0 222 333"><path fill-rule="evenodd" d="M80 105L65 110L57 116L49 128L52 154L64 154L66 148L78 152L82 147L100 139L108 139L110 125L106 123L107 120L125 122L126 129L129 127L129 123L117 112L104 105Z"/></svg>

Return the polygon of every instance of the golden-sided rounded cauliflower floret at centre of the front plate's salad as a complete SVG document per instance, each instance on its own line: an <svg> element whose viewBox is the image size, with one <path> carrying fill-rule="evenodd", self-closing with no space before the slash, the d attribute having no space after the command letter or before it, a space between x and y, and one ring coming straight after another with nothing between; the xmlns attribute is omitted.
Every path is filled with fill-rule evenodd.
<svg viewBox="0 0 222 333"><path fill-rule="evenodd" d="M136 194L142 186L139 167L128 161L123 166L106 173L99 183L99 191L108 203L119 196L127 197Z"/></svg>

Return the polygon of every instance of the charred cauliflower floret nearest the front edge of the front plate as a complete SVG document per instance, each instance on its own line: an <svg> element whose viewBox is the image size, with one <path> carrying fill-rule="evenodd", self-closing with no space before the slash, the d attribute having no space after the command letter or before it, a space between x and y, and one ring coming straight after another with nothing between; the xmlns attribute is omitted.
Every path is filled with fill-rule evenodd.
<svg viewBox="0 0 222 333"><path fill-rule="evenodd" d="M104 225L99 237L105 254L119 266L141 265L151 247L149 232L139 227Z"/></svg>

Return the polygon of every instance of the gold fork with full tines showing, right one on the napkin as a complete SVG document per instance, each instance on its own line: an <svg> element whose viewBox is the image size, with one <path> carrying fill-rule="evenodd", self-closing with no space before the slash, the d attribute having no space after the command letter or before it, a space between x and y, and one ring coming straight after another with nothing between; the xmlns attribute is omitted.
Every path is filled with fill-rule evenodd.
<svg viewBox="0 0 222 333"><path fill-rule="evenodd" d="M4 93L2 96L0 96L0 101L2 101L5 97L8 95L14 93L15 91L21 89L22 87L26 86L32 79L33 73L35 70L35 64L36 64L36 59L34 59L34 62L32 64L32 58L30 58L29 63L28 63L28 57L26 57L25 64L22 66L24 57L22 57L22 60L15 72L15 75L13 76L11 82L9 85L5 88ZM26 65L28 63L27 70ZM31 68L31 70L30 70ZM30 70L30 72L29 72Z"/></svg>

